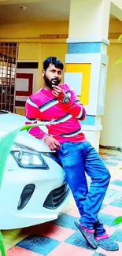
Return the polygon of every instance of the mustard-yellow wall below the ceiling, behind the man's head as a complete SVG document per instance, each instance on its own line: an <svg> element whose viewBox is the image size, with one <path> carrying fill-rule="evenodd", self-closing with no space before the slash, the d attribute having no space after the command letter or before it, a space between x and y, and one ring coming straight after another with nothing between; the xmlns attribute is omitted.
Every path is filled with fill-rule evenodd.
<svg viewBox="0 0 122 256"><path fill-rule="evenodd" d="M41 35L61 35L62 39L41 39ZM42 69L45 58L57 56L65 64L66 35L68 35L68 22L0 26L0 42L18 43L19 61L39 61L38 89L43 86ZM16 112L22 114L24 110L17 108Z"/></svg>

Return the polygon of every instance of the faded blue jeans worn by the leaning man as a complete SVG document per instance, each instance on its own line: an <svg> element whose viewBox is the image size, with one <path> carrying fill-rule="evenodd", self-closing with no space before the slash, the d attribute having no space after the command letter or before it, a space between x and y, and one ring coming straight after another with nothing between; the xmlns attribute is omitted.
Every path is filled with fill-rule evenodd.
<svg viewBox="0 0 122 256"><path fill-rule="evenodd" d="M89 229L94 228L95 236L102 236L105 229L98 221L98 213L109 185L108 169L88 142L62 143L57 158L65 169L65 179L79 209L79 221ZM89 190L85 173L91 177Z"/></svg>

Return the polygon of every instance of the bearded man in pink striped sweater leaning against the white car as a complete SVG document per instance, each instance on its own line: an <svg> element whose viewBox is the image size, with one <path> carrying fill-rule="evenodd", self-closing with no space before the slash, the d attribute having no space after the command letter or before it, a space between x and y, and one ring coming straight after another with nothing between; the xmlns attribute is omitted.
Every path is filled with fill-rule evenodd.
<svg viewBox="0 0 122 256"><path fill-rule="evenodd" d="M48 134L39 127L31 128L29 133L43 139L50 150L56 150L81 215L75 224L87 242L93 248L118 250L118 244L109 238L98 221L110 174L83 135L79 121L84 120L86 112L75 91L68 84L61 84L63 69L64 65L55 57L43 62L44 85L26 102L26 124L54 121L46 125ZM85 173L91 177L89 191Z"/></svg>

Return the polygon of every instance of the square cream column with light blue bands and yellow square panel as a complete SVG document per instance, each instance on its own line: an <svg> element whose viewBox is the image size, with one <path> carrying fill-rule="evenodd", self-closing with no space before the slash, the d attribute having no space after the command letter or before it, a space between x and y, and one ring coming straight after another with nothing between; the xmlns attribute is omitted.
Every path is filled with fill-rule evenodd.
<svg viewBox="0 0 122 256"><path fill-rule="evenodd" d="M82 128L96 150L104 113L109 10L109 0L71 0L65 56L65 83L74 87L87 110Z"/></svg>

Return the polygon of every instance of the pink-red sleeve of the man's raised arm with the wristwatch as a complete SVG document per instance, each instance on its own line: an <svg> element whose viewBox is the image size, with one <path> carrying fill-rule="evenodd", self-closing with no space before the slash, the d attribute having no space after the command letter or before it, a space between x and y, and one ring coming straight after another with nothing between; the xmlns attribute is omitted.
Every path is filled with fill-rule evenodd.
<svg viewBox="0 0 122 256"><path fill-rule="evenodd" d="M86 117L86 110L83 104L79 101L76 96L76 92L69 87L70 89L70 101L66 104L63 104L65 109L67 109L68 113L72 115L72 117L76 117L76 119L83 121Z"/></svg>

